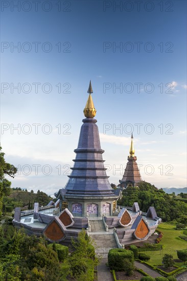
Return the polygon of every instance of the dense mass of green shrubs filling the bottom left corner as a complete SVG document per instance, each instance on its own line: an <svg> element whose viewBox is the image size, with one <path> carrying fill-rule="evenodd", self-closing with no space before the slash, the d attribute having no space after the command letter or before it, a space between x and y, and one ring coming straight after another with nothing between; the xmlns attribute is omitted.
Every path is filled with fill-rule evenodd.
<svg viewBox="0 0 187 281"><path fill-rule="evenodd" d="M27 236L21 229L14 231L9 239L3 236L0 246L0 263L3 271L0 277L8 274L10 280L60 280L58 256L49 248L43 238Z"/></svg>

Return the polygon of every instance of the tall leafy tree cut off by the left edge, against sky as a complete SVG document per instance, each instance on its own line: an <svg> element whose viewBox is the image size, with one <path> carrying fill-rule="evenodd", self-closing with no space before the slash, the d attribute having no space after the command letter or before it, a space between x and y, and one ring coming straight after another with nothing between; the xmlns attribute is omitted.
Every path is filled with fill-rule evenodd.
<svg viewBox="0 0 187 281"><path fill-rule="evenodd" d="M11 192L11 182L5 176L14 178L17 172L13 165L5 161L4 155L5 153L2 152L2 147L0 147L0 216L2 215L3 197L10 195Z"/></svg>

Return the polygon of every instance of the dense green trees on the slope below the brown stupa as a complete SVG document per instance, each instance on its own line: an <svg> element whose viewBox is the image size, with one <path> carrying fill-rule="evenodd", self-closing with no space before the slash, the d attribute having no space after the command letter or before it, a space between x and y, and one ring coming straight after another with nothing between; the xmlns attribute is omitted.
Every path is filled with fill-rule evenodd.
<svg viewBox="0 0 187 281"><path fill-rule="evenodd" d="M122 192L119 205L132 206L138 202L139 208L147 212L150 206L154 206L158 217L163 221L180 220L187 213L187 204L176 201L163 190L158 190L151 183L142 181L137 186L128 186Z"/></svg>

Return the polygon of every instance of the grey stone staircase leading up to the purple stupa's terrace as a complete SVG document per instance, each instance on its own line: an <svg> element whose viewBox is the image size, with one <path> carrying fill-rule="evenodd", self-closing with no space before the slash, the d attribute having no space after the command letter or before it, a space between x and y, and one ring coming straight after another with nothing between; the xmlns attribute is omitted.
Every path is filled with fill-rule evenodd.
<svg viewBox="0 0 187 281"><path fill-rule="evenodd" d="M95 244L96 253L105 257L110 249L118 248L113 233L106 232L102 220L89 220L91 225L90 238Z"/></svg>

